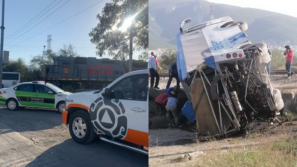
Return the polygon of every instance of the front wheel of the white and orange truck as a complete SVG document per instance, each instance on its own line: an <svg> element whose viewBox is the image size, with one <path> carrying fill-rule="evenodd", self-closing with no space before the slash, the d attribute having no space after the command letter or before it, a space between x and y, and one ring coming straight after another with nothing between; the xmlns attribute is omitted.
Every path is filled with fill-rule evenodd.
<svg viewBox="0 0 297 167"><path fill-rule="evenodd" d="M76 120L80 120L81 123L77 124ZM80 127L80 131L84 131L84 127L85 127L84 135L81 132L78 132L75 134L75 129L78 129L78 128L73 127L74 122L76 122L77 126ZM93 129L89 113L86 111L75 111L74 113L72 113L69 119L69 132L72 139L74 139L74 141L76 141L77 143L87 144L92 142L96 137L96 132ZM81 135L77 135L77 134L81 134Z"/></svg>

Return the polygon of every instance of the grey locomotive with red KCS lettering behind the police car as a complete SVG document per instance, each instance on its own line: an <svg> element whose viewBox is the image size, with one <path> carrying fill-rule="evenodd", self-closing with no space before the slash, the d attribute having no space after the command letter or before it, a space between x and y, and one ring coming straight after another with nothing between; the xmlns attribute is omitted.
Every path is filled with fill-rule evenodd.
<svg viewBox="0 0 297 167"><path fill-rule="evenodd" d="M100 89L129 72L129 60L94 57L54 57L54 64L41 66L46 82L59 82L75 89ZM132 71L148 69L148 62L133 60Z"/></svg>

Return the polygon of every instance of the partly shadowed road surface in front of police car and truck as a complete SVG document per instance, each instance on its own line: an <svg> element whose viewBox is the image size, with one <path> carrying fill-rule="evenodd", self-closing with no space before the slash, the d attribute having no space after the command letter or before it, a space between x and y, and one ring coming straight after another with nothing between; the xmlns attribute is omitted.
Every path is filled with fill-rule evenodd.
<svg viewBox="0 0 297 167"><path fill-rule="evenodd" d="M34 143L35 141L35 143ZM148 156L102 142L76 143L54 110L0 105L0 166L148 166Z"/></svg>

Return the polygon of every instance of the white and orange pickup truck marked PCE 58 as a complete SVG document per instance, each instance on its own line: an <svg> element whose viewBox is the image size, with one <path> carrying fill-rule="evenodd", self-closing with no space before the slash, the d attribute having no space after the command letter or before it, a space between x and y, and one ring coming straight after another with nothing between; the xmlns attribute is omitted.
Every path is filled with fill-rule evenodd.
<svg viewBox="0 0 297 167"><path fill-rule="evenodd" d="M149 71L122 75L101 91L74 93L65 99L62 119L81 144L100 139L147 154L149 146Z"/></svg>

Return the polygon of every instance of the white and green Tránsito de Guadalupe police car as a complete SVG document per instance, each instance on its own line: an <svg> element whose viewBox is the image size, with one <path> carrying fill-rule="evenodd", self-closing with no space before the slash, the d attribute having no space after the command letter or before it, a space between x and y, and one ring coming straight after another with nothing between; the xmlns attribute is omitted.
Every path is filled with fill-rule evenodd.
<svg viewBox="0 0 297 167"><path fill-rule="evenodd" d="M19 107L57 109L62 113L65 98L71 94L44 81L24 82L0 89L0 104L14 111Z"/></svg>

